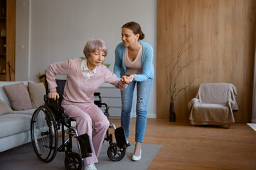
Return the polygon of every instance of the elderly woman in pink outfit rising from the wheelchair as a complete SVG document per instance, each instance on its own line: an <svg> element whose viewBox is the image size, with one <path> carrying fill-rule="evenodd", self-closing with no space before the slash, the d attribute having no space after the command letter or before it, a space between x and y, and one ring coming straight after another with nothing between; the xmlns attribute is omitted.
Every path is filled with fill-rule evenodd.
<svg viewBox="0 0 256 170"><path fill-rule="evenodd" d="M50 64L46 77L50 93L49 98L58 98L55 77L67 75L62 106L65 113L76 120L78 135L87 133L92 140L92 157L84 159L84 169L96 169L95 162L100 154L105 133L110 125L107 117L94 104L94 92L104 83L110 83L119 89L125 89L124 78L117 78L102 62L107 55L107 46L98 39L89 40L84 48L87 60L67 60ZM92 130L92 123L94 128Z"/></svg>

